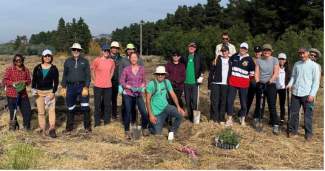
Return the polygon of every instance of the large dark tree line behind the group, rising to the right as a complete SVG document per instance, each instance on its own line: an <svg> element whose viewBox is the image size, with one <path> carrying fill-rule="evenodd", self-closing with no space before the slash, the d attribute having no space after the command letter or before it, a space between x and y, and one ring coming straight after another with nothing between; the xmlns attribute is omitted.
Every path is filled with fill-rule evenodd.
<svg viewBox="0 0 325 171"><path fill-rule="evenodd" d="M188 42L196 41L211 60L221 34L228 32L236 47L246 41L251 54L252 46L271 43L274 55L285 52L294 62L300 46L323 53L323 5L323 0L229 0L227 7L221 7L220 0L207 0L206 4L178 6L164 19L141 21L143 53L168 57L173 50L185 53ZM133 23L114 30L112 40L139 47L139 31L140 23Z"/></svg>

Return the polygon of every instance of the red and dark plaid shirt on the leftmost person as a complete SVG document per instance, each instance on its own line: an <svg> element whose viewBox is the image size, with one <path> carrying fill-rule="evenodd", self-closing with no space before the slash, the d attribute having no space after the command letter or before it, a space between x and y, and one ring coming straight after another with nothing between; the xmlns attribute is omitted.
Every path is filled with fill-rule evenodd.
<svg viewBox="0 0 325 171"><path fill-rule="evenodd" d="M31 83L29 70L26 67L24 70L19 70L15 66L10 66L5 71L3 81L7 88L6 95L8 97L17 97L17 92L13 84L18 81L25 81L26 86L29 85ZM22 91L20 95L26 97L26 90Z"/></svg>

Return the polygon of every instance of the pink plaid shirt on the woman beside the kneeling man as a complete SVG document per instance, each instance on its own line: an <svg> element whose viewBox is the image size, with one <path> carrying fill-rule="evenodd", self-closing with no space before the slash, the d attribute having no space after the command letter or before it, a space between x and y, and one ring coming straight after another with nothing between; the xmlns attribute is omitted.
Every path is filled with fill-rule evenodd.
<svg viewBox="0 0 325 171"><path fill-rule="evenodd" d="M145 87L146 80L144 76L144 67L139 66L139 70L136 75L133 74L131 65L124 68L120 78L120 84L125 89L125 93L127 95L129 96L141 95L141 93L139 92L132 92L130 89L126 89L126 85L129 85L132 88Z"/></svg>

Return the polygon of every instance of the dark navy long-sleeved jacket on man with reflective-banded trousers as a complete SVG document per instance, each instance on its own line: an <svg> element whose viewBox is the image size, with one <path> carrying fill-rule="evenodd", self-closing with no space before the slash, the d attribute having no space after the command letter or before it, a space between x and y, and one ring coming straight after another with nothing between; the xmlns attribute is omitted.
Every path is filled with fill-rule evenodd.
<svg viewBox="0 0 325 171"><path fill-rule="evenodd" d="M84 57L79 57L76 61L69 57L64 62L64 70L61 85L65 87L68 83L82 82L85 86L90 85L89 62Z"/></svg>

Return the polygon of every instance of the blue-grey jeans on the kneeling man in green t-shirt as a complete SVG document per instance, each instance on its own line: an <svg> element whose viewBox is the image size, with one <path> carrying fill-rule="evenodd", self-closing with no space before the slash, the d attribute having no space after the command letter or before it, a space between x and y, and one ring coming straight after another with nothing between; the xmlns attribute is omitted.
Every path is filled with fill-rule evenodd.
<svg viewBox="0 0 325 171"><path fill-rule="evenodd" d="M182 122L182 116L177 111L177 108L175 106L172 106L172 105L166 106L166 108L159 115L156 116L157 123L156 124L151 124L150 131L153 134L161 134L164 123L165 123L167 117L170 117L172 120L174 120L174 122L173 122L173 124L172 124L169 131L170 132L176 132L178 127L180 126L180 124ZM173 118L175 118L175 119L173 119Z"/></svg>

